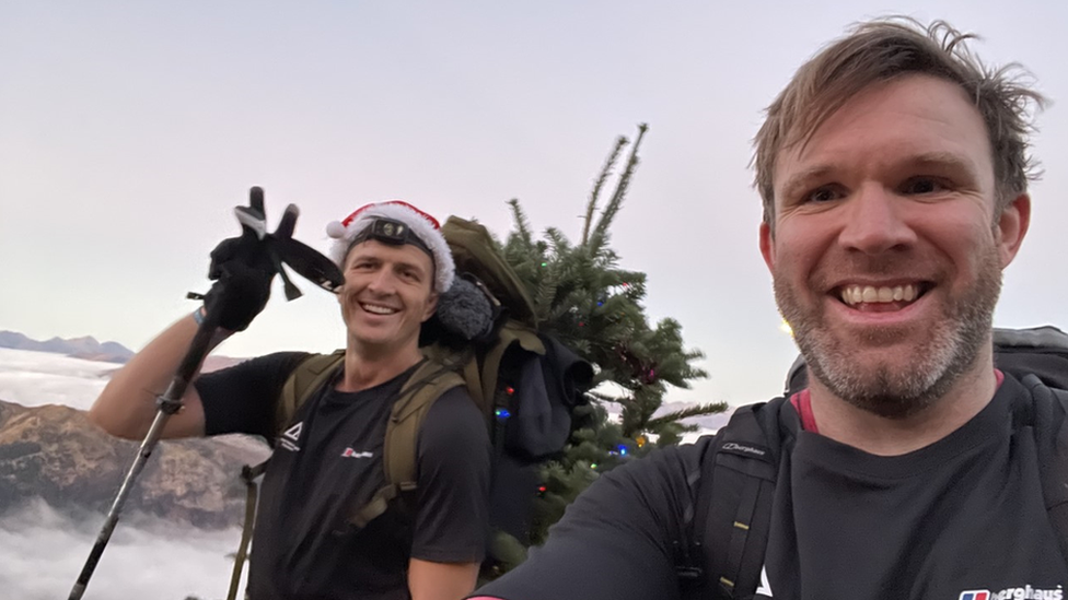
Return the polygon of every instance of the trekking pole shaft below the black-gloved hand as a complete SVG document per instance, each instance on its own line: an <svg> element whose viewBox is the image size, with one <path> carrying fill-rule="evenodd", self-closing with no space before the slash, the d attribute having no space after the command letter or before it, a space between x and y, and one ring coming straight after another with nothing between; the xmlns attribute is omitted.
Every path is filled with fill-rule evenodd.
<svg viewBox="0 0 1068 600"><path fill-rule="evenodd" d="M126 479L123 480L123 485L115 496L115 502L112 503L112 508L107 513L104 526L101 527L101 531L96 536L96 543L93 544L93 549L89 553L89 558L85 560L85 565L82 567L82 572L78 576L74 587L70 590L68 600L81 600L82 595L85 593L89 580L92 578L93 572L96 570L96 564L100 563L101 556L104 554L104 549L112 539L112 533L118 523L123 505L126 504L126 498L134 489L134 481L141 474L146 462L152 456L152 450L155 449L163 434L163 427L166 425L167 419L181 410L182 397L185 395L186 388L196 375L200 363L211 350L211 339L214 336L216 329L218 329L218 325L209 314L197 328L193 342L189 344L189 350L186 351L182 364L171 379L171 385L167 386L163 396L156 399L156 404L160 410L156 411L155 419L152 420L152 425L144 435L144 439L141 440L141 446L138 449L137 457L134 459L134 464L130 466L130 470L126 473Z"/></svg>

